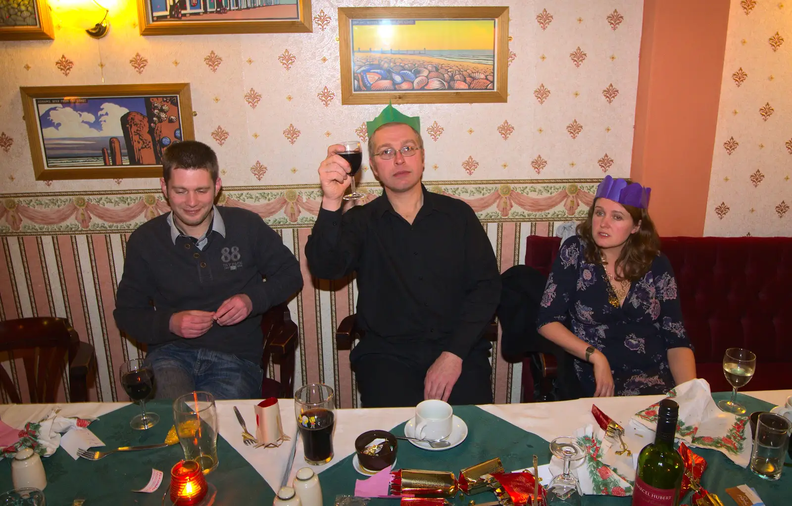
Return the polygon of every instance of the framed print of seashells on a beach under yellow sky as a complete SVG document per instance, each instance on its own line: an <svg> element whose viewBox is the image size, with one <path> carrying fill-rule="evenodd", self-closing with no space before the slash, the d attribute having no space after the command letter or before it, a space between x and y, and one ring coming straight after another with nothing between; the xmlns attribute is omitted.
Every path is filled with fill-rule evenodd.
<svg viewBox="0 0 792 506"><path fill-rule="evenodd" d="M508 7L341 7L341 103L505 102Z"/></svg>

